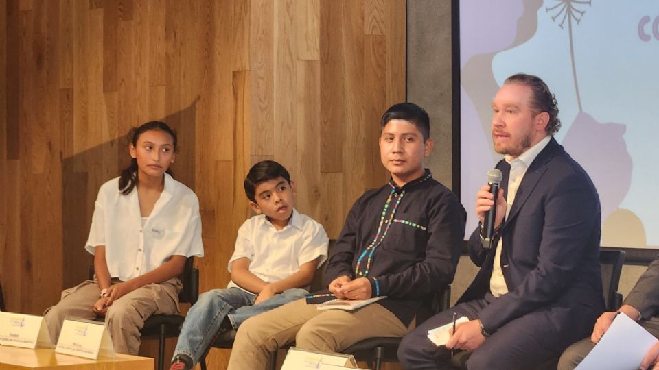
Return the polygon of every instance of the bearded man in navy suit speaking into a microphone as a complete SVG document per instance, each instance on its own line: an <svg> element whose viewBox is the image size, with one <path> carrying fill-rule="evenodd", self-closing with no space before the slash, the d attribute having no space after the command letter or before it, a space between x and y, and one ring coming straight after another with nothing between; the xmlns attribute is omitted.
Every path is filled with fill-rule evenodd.
<svg viewBox="0 0 659 370"><path fill-rule="evenodd" d="M406 369L450 369L450 350L473 351L467 368L534 369L590 333L604 310L599 268L601 210L590 177L553 138L560 127L542 79L513 75L492 102L492 140L505 159L496 197L496 235L486 248L481 225L494 206L476 195L481 225L470 240L481 267L458 304L408 334L398 357ZM485 244L487 245L487 244ZM465 316L446 346L428 330Z"/></svg>

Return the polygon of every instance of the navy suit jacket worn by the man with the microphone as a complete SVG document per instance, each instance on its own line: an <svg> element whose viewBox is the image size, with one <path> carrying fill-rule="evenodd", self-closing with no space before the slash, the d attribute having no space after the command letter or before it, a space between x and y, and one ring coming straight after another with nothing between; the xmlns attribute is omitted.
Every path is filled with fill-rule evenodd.
<svg viewBox="0 0 659 370"><path fill-rule="evenodd" d="M507 196L510 165L503 173ZM484 249L480 228L469 240L470 258L481 266L460 301L482 299L489 292L496 247ZM501 266L509 293L478 313L492 334L509 321L545 311L546 322L570 337L590 334L604 310L599 243L601 210L590 177L554 138L524 174L507 219L503 221ZM496 246L498 239L493 240ZM587 329L586 329L587 330Z"/></svg>

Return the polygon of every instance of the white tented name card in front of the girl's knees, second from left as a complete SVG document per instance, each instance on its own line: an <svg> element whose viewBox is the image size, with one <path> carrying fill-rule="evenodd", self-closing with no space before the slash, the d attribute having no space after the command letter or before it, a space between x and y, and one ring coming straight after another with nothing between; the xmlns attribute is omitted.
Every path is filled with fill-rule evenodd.
<svg viewBox="0 0 659 370"><path fill-rule="evenodd" d="M55 351L93 360L99 355L115 358L115 348L105 323L84 319L65 319Z"/></svg>

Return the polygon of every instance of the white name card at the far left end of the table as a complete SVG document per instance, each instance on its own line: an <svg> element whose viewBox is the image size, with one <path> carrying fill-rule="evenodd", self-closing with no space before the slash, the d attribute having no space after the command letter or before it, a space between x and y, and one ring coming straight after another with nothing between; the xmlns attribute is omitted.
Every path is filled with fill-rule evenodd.
<svg viewBox="0 0 659 370"><path fill-rule="evenodd" d="M43 316L0 312L0 345L54 347Z"/></svg>

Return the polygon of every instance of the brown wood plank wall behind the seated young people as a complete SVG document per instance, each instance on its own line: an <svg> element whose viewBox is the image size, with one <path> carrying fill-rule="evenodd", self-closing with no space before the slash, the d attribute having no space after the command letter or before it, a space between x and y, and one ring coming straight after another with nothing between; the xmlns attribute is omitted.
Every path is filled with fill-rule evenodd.
<svg viewBox="0 0 659 370"><path fill-rule="evenodd" d="M200 290L224 286L251 164L275 159L297 208L338 236L386 173L378 120L405 99L404 0L0 1L0 284L41 314L87 274L98 187L125 134L178 130L172 170L200 200ZM224 367L228 351L211 351Z"/></svg>

